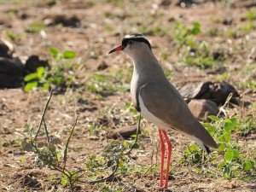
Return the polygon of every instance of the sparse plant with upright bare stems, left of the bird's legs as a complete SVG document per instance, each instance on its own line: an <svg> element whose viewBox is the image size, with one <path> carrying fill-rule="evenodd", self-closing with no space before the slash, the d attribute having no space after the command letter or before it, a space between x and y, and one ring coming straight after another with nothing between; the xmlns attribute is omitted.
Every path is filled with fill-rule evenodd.
<svg viewBox="0 0 256 192"><path fill-rule="evenodd" d="M113 178L114 174L125 174L128 172L127 163L129 163L129 154L134 148L139 148L137 144L139 134L139 124L137 127L137 137L135 143L128 143L127 141L113 141L108 144L102 154L100 155L88 155L84 162L84 167L79 169L72 169L67 167L67 153L68 145L73 132L77 119L73 124L73 127L69 133L65 146L61 146L61 139L57 137L50 137L48 127L46 125L44 116L49 107L49 102L52 97L52 91L50 91L49 99L44 106L38 129L35 130L33 125L25 125L24 132L27 136L21 142L21 148L24 151L33 152L36 155L35 163L39 168L44 166L49 167L61 173L61 185L69 186L71 191L75 190L76 183L102 183L108 179ZM44 125L44 131L41 130L41 126ZM46 141L38 142L38 136L45 136ZM84 180L84 175L87 180ZM106 177L107 175L107 177ZM88 181L90 178L90 181ZM52 178L49 178L50 180Z"/></svg>

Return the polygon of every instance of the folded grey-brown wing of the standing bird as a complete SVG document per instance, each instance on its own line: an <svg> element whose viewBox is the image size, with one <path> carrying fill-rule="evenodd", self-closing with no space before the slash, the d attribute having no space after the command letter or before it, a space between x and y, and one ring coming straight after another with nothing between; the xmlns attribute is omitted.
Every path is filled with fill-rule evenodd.
<svg viewBox="0 0 256 192"><path fill-rule="evenodd" d="M148 83L142 86L139 94L148 111L171 128L197 137L209 147L218 147L172 84Z"/></svg>

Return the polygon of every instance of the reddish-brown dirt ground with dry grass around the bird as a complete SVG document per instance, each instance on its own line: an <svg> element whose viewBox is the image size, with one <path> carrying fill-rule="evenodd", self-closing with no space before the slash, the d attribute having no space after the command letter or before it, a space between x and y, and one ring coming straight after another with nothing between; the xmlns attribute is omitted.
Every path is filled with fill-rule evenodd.
<svg viewBox="0 0 256 192"><path fill-rule="evenodd" d="M50 3L56 2L56 3ZM200 1L204 2L204 1ZM184 25L191 26L194 21L201 23L202 33L199 38L207 40L212 49L224 49L227 60L223 63L224 71L229 73L227 79L241 95L243 103L255 103L256 90L253 87L241 87L240 83L251 81L255 84L256 64L256 28L248 30L240 37L225 35L209 36L207 32L216 28L225 33L244 25L244 16L248 11L256 12L255 1L207 1L188 8L177 6L177 1L3 1L0 0L0 34L14 46L14 55L21 61L26 61L30 55L38 55L40 59L52 61L49 47L60 51L73 50L77 54L76 61L83 65L79 68L79 89L67 89L54 95L46 113L46 122L50 133L66 141L68 129L78 117L75 133L71 139L68 157L69 167L79 167L86 155L100 154L103 148L113 141L106 137L108 131L113 131L124 125L137 125L137 113L131 113L126 105L131 102L129 83L132 73L131 61L122 54L108 55L108 51L120 43L125 34L140 32L148 26L172 28L172 20L180 20ZM167 4L166 4L167 3ZM171 4L169 4L171 3ZM227 3L227 4L224 4ZM32 22L47 22L55 20L57 15L79 18L78 26L49 25L42 32L25 32ZM231 23L229 23L229 20ZM228 22L228 23L227 23ZM254 20L255 22L255 20ZM145 27L142 27L145 26ZM20 38L10 40L6 32L21 34ZM145 30L143 31L144 33ZM142 33L143 33L142 32ZM166 70L171 70L170 79L177 84L201 80L215 80L219 68L200 70L197 67L184 67L179 64L181 55L173 51L171 34L146 34L152 44L155 55ZM166 52L166 58L160 55ZM104 73L99 66L106 63L107 73L122 72L123 77L113 86L123 87L123 90L107 91L98 96L95 91L84 88L90 82L92 74ZM50 63L51 64L51 63ZM254 67L251 67L254 66ZM246 67L251 67L251 73L244 73ZM218 76L219 77L219 76ZM125 90L124 90L125 89ZM44 167L34 166L35 155L21 150L20 141L26 137L23 132L25 124L38 126L44 104L49 92L42 90L25 93L22 88L0 90L0 191L68 191L61 186L60 174ZM255 113L255 107L235 106L226 108L227 116ZM104 125L104 131L97 134L90 131L91 125ZM254 119L255 123L255 119ZM133 156L132 163L137 166L154 165L159 160L155 155L159 145L154 125L143 120L143 128L149 132L139 141L139 148ZM190 141L177 133L171 133L174 143L172 165L182 156L182 151ZM255 146L256 132L247 138L235 137L241 146ZM255 150L254 150L255 151ZM255 154L254 154L255 156ZM25 161L23 162L22 160ZM21 162L22 161L22 162ZM224 177L207 177L195 172L194 167L183 166L174 169L169 183L170 191L256 191L256 181L225 179ZM147 172L146 172L147 173ZM56 175L56 179L49 177ZM218 175L220 175L218 173ZM126 173L108 183L79 183L77 191L156 191L159 175L154 172ZM122 189L122 190L117 190Z"/></svg>

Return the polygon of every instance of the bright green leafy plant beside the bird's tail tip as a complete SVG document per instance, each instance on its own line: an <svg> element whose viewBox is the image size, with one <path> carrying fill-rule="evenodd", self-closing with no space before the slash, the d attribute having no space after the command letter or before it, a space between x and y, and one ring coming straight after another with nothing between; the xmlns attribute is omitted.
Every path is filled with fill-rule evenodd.
<svg viewBox="0 0 256 192"><path fill-rule="evenodd" d="M231 133L236 131L238 119L220 119L216 116L210 116L212 123L204 124L211 134L213 134L219 143L218 155L224 155L223 160L218 163L218 169L222 170L224 177L247 177L253 178L255 172L255 160L252 160L248 154L244 154L238 143L231 140Z"/></svg>

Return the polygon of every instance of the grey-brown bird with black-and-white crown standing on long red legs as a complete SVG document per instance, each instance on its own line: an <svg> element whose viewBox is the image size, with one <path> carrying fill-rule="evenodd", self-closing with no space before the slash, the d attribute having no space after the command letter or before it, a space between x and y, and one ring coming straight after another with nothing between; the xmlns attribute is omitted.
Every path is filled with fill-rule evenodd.
<svg viewBox="0 0 256 192"><path fill-rule="evenodd" d="M138 33L126 35L121 44L111 49L108 54L113 52L123 52L133 61L131 101L143 118L158 127L160 139L160 187L158 189L167 189L172 143L166 131L181 132L198 143L207 153L210 152L209 147L218 148L218 144L204 126L195 119L183 97L166 78L145 36Z"/></svg>

